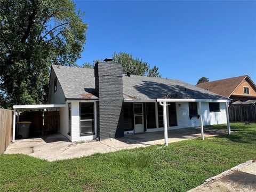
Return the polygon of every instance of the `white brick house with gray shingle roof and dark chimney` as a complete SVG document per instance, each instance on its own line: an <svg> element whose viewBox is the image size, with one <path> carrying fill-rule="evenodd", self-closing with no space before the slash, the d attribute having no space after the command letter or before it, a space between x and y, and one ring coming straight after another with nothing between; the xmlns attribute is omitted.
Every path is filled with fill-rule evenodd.
<svg viewBox="0 0 256 192"><path fill-rule="evenodd" d="M66 105L59 132L71 141L227 123L229 101L175 79L123 75L111 60L51 67L48 102Z"/></svg>

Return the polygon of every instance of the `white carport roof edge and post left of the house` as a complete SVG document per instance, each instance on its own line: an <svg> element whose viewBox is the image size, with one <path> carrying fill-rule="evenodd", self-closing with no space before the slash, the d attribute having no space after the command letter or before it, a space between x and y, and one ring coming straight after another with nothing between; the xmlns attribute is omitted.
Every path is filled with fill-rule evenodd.
<svg viewBox="0 0 256 192"><path fill-rule="evenodd" d="M59 109L61 107L66 107L63 105L15 105L13 106L13 132L12 132L12 142L15 141L15 125L16 125L16 110L17 110L17 122L19 122L19 112L20 110L39 110L39 109Z"/></svg>

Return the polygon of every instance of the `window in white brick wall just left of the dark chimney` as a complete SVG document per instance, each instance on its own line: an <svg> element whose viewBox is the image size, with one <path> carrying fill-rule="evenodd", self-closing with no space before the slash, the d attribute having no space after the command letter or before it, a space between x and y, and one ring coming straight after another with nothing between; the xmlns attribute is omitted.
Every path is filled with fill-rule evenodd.
<svg viewBox="0 0 256 192"><path fill-rule="evenodd" d="M80 135L95 134L94 132L94 103L80 103Z"/></svg>

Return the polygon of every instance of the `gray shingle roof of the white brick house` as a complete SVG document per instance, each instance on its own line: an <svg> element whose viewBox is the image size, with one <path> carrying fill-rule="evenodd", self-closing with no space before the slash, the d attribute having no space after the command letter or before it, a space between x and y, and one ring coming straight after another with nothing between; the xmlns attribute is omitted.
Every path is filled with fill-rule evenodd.
<svg viewBox="0 0 256 192"><path fill-rule="evenodd" d="M66 99L97 99L94 69L52 66ZM158 77L123 76L124 99L227 99L197 86Z"/></svg>

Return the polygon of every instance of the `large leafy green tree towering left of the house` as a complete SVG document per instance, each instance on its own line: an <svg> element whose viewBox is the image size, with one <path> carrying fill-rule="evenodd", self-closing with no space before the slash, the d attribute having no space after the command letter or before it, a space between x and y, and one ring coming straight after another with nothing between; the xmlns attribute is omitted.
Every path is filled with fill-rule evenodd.
<svg viewBox="0 0 256 192"><path fill-rule="evenodd" d="M6 107L45 102L50 65L73 66L81 57L87 29L82 17L69 0L0 0L0 92Z"/></svg>

